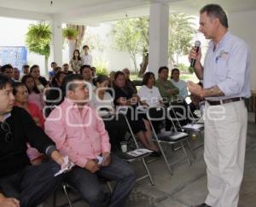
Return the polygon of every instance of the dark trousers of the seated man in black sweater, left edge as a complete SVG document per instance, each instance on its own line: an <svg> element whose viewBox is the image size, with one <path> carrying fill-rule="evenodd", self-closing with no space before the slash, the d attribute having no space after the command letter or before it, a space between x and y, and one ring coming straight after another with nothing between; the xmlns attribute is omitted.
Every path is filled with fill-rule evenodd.
<svg viewBox="0 0 256 207"><path fill-rule="evenodd" d="M28 165L14 175L1 178L0 187L6 197L20 200L20 207L35 207L61 184L63 176L54 176L60 168L54 161Z"/></svg>

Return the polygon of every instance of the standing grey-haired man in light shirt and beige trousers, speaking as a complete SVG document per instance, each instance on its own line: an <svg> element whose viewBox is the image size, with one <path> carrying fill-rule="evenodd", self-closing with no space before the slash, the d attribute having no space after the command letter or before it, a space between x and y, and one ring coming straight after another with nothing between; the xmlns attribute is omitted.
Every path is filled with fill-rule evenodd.
<svg viewBox="0 0 256 207"><path fill-rule="evenodd" d="M208 195L198 207L236 207L243 177L247 138L247 107L250 96L250 50L232 35L228 18L218 4L200 10L199 31L211 39L204 65L201 49L192 49L195 74L204 81L189 82L189 91L206 99L205 152Z"/></svg>

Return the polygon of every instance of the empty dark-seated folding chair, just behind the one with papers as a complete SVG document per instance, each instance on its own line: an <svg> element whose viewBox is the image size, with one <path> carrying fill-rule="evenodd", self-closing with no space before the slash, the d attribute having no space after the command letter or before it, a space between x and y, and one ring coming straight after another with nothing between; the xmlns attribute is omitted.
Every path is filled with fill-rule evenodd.
<svg viewBox="0 0 256 207"><path fill-rule="evenodd" d="M155 111L154 111L155 110ZM154 112L154 113L153 113ZM156 113L155 113L156 112ZM152 121L161 121L165 122L166 120L166 108L164 106L154 106L154 107L148 107L147 110L147 118L149 121L149 124L152 128L153 134L154 134L154 141L158 144L160 148L160 152L163 155L163 158L166 162L167 168L172 175L172 169L171 165L176 164L179 160L177 160L174 163L170 163L168 159L166 158L166 152L163 150L163 147L161 144L168 144L168 145L174 145L179 144L182 149L183 153L185 155L185 158L187 158L188 164L191 165L191 161L189 158L189 154L186 151L185 145L186 144L189 147L189 151L193 154L191 147L189 146L189 134L185 132L178 132L177 128L172 122L174 131L158 131L157 129L154 129L154 124L152 124ZM171 119L172 121L172 119Z"/></svg>

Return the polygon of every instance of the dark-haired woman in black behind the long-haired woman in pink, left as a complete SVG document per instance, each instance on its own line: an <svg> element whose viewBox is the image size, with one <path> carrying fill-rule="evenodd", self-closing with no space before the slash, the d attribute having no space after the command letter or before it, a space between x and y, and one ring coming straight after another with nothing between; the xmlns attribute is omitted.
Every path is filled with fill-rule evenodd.
<svg viewBox="0 0 256 207"><path fill-rule="evenodd" d="M45 88L49 87L47 80L40 76L40 68L38 65L33 65L29 70L29 74L34 78L35 84L41 93L43 93Z"/></svg>

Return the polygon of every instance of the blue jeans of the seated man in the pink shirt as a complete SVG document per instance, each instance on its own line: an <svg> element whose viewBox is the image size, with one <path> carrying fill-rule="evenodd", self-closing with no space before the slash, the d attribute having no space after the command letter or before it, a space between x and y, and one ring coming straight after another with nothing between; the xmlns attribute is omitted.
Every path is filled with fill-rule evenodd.
<svg viewBox="0 0 256 207"><path fill-rule="evenodd" d="M104 193L99 177L117 181L111 198L108 193ZM136 174L131 165L115 155L111 155L111 164L108 167L102 167L96 173L75 167L67 174L67 183L76 188L91 207L124 206L135 181Z"/></svg>

